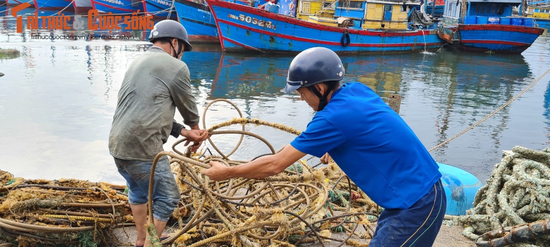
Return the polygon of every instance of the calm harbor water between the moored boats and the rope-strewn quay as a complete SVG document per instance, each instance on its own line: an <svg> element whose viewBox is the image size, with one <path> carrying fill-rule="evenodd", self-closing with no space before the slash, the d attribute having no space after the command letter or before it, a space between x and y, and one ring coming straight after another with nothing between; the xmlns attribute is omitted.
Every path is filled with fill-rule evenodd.
<svg viewBox="0 0 550 247"><path fill-rule="evenodd" d="M33 40L33 34L90 33L16 33L15 19L5 10L0 7L0 48L18 49L21 56L0 59L0 72L5 74L0 77L0 169L25 178L67 177L122 184L107 139L120 83L131 61L148 46L142 42L147 33L123 33L135 40ZM194 48L183 60L191 71L200 115L211 100L224 98L232 100L245 117L305 129L313 111L298 95L282 92L292 56L229 54L218 46L198 44ZM345 81L365 83L384 99L390 93L403 97L400 115L430 149L540 77L550 68L549 50L550 35L544 32L521 55L442 49L432 54L356 55L342 60ZM514 145L548 147L549 81L550 76L542 78L480 126L432 151L433 157L485 181L502 150ZM228 104L212 105L206 126L235 116L237 112ZM177 114L175 119L181 121L182 117ZM276 149L293 139L266 127L249 129L266 137ZM213 137L226 151L238 138ZM174 141L171 137L165 150L170 150ZM259 141L246 139L234 158L249 159L267 151Z"/></svg>

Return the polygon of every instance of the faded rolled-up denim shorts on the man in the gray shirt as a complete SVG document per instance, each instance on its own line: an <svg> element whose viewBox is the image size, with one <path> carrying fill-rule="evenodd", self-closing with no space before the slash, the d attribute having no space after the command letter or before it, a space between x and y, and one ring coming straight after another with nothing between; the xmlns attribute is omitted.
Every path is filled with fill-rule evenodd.
<svg viewBox="0 0 550 247"><path fill-rule="evenodd" d="M131 205L147 203L153 162L114 158L114 163L120 175L126 179L129 203ZM178 206L179 198L178 184L175 182L168 159L159 160L153 179L153 217L160 221L168 221L175 207Z"/></svg>

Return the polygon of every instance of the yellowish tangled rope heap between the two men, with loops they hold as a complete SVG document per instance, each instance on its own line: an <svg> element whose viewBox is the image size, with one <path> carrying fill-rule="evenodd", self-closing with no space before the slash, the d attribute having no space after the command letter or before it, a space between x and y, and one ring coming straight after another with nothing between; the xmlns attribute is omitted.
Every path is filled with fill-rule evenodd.
<svg viewBox="0 0 550 247"><path fill-rule="evenodd" d="M220 99L223 100L223 99ZM214 100L212 103L220 100ZM175 246L295 246L300 243L334 240L340 245L368 246L372 238L371 222L376 221L379 207L367 198L364 192L353 184L334 162L327 167L315 169L302 160L289 169L264 179L232 178L223 182L209 181L201 174L210 168L208 162L220 161L227 166L244 164L248 161L231 160L229 157L243 141L243 136L260 139L276 153L272 145L257 134L245 131L245 125L263 125L293 134L295 130L278 123L259 119L242 118L240 110L233 103L241 118L219 123L208 129L211 136L217 134L240 134L241 138L232 151L222 153L209 139L218 155L195 155L189 151L182 153L173 145L175 153L163 151L153 162L163 155L171 158L177 182L182 193L182 207L175 210L175 217L181 228L162 243L153 237L153 246L173 243ZM205 109L205 114L208 109ZM204 120L205 115L203 115ZM218 131L218 128L242 125L242 130ZM189 150L189 148L188 148ZM261 156L261 155L260 155ZM152 177L151 177L152 178ZM152 193L152 179L150 180ZM150 197L151 198L151 197ZM151 205L151 201L149 201ZM150 233L155 233L152 224L152 210L149 210ZM364 228L358 233L357 228ZM331 232L347 232L346 238L332 237Z"/></svg>

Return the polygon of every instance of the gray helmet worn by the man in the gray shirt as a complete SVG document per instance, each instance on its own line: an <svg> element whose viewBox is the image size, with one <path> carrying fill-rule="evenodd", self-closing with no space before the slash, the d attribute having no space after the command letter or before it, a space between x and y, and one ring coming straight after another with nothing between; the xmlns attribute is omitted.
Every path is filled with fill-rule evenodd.
<svg viewBox="0 0 550 247"><path fill-rule="evenodd" d="M149 42L154 43L158 38L177 38L185 42L185 52L193 50L189 43L187 30L175 20L161 20L153 27L149 35Z"/></svg>

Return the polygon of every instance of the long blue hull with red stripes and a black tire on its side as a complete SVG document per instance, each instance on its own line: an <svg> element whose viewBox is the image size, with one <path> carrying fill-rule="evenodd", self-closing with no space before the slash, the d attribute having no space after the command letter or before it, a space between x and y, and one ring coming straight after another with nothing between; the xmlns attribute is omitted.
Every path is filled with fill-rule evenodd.
<svg viewBox="0 0 550 247"><path fill-rule="evenodd" d="M337 53L402 53L443 44L437 30L348 30L219 0L207 3L226 52L298 53L322 46Z"/></svg>

